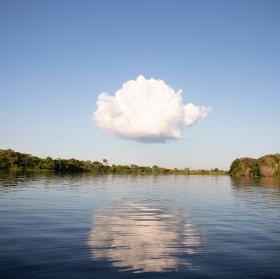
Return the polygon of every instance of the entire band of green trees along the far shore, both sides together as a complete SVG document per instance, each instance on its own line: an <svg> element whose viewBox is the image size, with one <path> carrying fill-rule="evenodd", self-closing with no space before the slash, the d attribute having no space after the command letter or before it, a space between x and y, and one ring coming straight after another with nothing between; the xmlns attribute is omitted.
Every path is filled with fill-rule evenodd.
<svg viewBox="0 0 280 279"><path fill-rule="evenodd" d="M258 159L238 158L229 171L218 168L203 170L169 169L154 165L109 165L108 160L83 161L77 159L39 158L31 154L0 149L0 170L10 171L52 171L58 173L93 173L93 174L183 174L183 175L230 175L232 177L280 177L280 154L270 154Z"/></svg>

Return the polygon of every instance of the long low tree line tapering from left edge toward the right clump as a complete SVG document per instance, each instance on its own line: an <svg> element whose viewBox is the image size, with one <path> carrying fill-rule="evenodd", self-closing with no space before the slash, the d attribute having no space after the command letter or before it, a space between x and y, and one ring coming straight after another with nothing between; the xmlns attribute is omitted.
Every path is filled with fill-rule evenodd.
<svg viewBox="0 0 280 279"><path fill-rule="evenodd" d="M0 149L0 169L5 170L49 170L55 172L74 173L92 172L94 174L186 174L186 175L219 175L227 174L224 170L191 170L168 169L158 166L147 167L137 165L109 165L106 159L98 161L80 161L76 159L39 158L30 154L15 152L11 149Z"/></svg>

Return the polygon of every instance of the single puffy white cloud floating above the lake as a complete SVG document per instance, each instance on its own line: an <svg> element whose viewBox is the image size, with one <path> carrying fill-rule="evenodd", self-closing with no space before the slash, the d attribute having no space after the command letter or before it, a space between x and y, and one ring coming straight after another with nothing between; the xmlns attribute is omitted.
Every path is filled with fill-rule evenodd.
<svg viewBox="0 0 280 279"><path fill-rule="evenodd" d="M94 119L97 126L120 137L141 142L166 142L181 139L185 126L205 119L209 108L182 103L163 80L145 79L125 82L114 96L106 92L97 99Z"/></svg>

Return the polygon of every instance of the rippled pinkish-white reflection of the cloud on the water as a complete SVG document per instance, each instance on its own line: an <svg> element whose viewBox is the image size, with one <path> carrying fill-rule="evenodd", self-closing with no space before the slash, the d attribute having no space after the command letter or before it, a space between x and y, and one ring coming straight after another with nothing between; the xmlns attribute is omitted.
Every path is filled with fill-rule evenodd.
<svg viewBox="0 0 280 279"><path fill-rule="evenodd" d="M142 204L99 211L88 244L94 260L134 272L163 272L192 268L188 255L202 243L195 226L178 214Z"/></svg>

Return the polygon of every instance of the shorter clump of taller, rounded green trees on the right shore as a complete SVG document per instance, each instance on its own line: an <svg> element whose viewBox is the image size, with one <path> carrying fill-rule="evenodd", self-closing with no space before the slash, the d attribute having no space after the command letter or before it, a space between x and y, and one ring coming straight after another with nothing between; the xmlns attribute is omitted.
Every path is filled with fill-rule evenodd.
<svg viewBox="0 0 280 279"><path fill-rule="evenodd" d="M235 177L280 176L280 154L265 155L258 159L236 159L231 164L229 174Z"/></svg>

